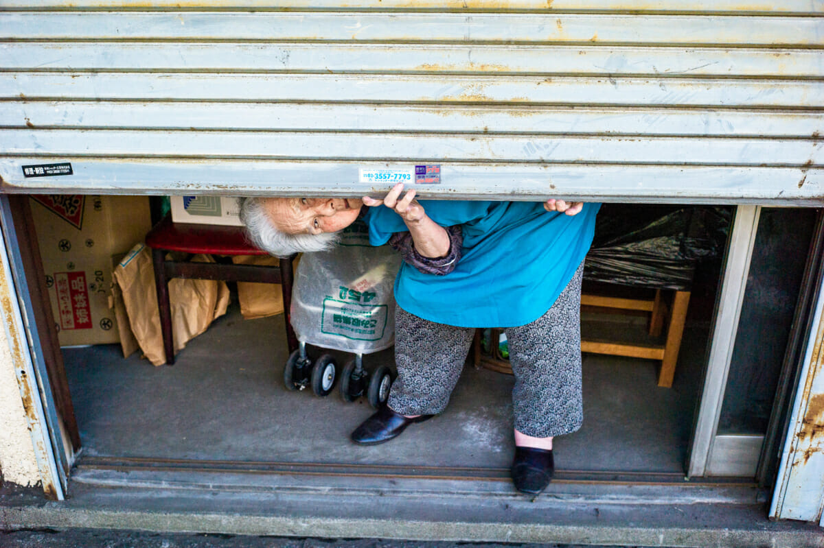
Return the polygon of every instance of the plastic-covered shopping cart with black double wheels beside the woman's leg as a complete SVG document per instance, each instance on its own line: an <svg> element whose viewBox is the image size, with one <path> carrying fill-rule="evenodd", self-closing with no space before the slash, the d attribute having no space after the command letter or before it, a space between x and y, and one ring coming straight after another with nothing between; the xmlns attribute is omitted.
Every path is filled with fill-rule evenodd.
<svg viewBox="0 0 824 548"><path fill-rule="evenodd" d="M330 251L305 253L297 266L292 294L292 326L299 347L283 368L289 390L311 386L317 396L335 388L338 365L329 353L312 360L307 344L351 352L340 374L346 402L366 396L373 407L389 397L393 371L380 365L371 373L363 355L395 342L395 275L400 256L388 245L372 247L362 221L349 225Z"/></svg>

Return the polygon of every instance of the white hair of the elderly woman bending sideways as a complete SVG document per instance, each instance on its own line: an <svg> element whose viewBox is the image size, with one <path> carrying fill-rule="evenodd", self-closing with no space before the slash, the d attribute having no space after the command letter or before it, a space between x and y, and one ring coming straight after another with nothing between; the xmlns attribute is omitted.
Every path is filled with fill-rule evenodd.
<svg viewBox="0 0 824 548"><path fill-rule="evenodd" d="M312 253L334 247L338 241L335 232L312 234L287 234L274 226L264 207L265 198L241 198L241 221L246 225L246 235L266 253L275 257L288 257L295 253Z"/></svg>

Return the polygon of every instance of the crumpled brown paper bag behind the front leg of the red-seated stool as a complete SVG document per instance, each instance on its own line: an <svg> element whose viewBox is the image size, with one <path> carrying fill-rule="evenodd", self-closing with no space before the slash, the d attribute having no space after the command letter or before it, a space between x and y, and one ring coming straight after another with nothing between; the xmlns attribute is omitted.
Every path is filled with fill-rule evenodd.
<svg viewBox="0 0 824 548"><path fill-rule="evenodd" d="M192 261L214 262L208 255L196 255ZM119 262L115 281L123 292L129 323L143 354L153 365L165 364L152 253L145 245L134 246ZM206 331L214 318L226 313L229 290L223 281L175 278L169 281L169 300L177 354L188 341Z"/></svg>

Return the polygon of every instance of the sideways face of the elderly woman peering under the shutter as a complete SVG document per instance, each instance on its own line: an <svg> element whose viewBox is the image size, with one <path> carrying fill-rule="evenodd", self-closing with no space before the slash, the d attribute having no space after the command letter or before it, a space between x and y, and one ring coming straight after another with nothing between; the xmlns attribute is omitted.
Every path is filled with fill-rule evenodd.
<svg viewBox="0 0 824 548"><path fill-rule="evenodd" d="M287 234L322 234L344 230L358 218L358 198L265 198L275 228Z"/></svg>

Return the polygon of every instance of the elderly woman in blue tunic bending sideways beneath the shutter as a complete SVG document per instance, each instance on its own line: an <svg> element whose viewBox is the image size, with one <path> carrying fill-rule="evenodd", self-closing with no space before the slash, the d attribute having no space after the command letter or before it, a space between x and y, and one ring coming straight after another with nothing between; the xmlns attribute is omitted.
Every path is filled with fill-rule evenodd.
<svg viewBox="0 0 824 548"><path fill-rule="evenodd" d="M552 439L578 430L580 291L598 204L417 201L398 184L382 200L247 198L251 238L274 255L334 244L358 216L372 245L404 258L396 277L398 378L388 405L352 433L381 444L438 415L475 327L505 327L515 375L517 490L537 494L554 471ZM364 207L365 206L365 207Z"/></svg>

